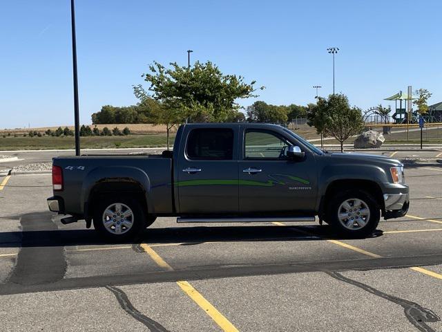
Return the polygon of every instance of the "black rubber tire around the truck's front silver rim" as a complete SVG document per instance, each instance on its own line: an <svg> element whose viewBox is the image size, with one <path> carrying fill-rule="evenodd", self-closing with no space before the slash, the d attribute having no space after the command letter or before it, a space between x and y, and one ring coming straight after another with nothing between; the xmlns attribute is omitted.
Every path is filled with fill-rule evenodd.
<svg viewBox="0 0 442 332"><path fill-rule="evenodd" d="M362 203L358 204L356 200ZM345 205L345 202L348 205ZM358 205L355 206L355 204ZM345 206L349 206L350 209L347 210ZM366 210L368 210L368 215L361 215L361 213L366 214ZM347 214L347 219L339 218L343 214ZM369 237L378 227L379 219L381 219L381 211L378 203L376 203L376 199L363 190L345 190L340 192L334 195L332 201L327 205L327 223L338 234L345 237Z"/></svg>

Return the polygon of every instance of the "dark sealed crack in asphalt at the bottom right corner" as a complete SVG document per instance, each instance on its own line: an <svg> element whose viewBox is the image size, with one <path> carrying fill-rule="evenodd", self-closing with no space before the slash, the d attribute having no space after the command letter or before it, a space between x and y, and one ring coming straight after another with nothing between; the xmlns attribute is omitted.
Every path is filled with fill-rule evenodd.
<svg viewBox="0 0 442 332"><path fill-rule="evenodd" d="M387 301L399 304L404 309L405 317L407 317L407 319L410 321L410 323L412 323L416 327L416 329L422 332L436 332L430 326L425 324L426 322L434 323L434 322L439 322L441 320L441 317L436 315L436 313L434 313L430 309L423 308L423 306L420 306L419 304L411 301L407 301L406 299L401 299L400 297L383 293L381 291L378 291L376 288L373 288L361 282L356 282L356 280L344 277L340 273L328 272L328 271L325 273L327 273L327 275L333 277L334 279L340 280L341 282L352 284L353 286L362 288L364 291L367 291L368 293L372 293L378 297L387 299Z"/></svg>

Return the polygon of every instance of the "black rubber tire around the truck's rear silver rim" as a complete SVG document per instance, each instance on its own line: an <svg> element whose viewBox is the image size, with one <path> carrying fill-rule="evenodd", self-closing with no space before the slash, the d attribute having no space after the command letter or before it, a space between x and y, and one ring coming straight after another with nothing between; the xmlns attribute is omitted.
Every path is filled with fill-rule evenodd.
<svg viewBox="0 0 442 332"><path fill-rule="evenodd" d="M104 225L104 212L109 207L112 207L113 205L120 204L122 211L122 216L117 216L116 212L113 216L110 217L108 221L111 221L112 217L117 216L117 219L113 223L114 225L109 228L106 228ZM128 212L126 208L131 210L131 217L129 217L127 220L124 219L123 214L124 212ZM109 211L114 211L115 209L111 208ZM116 211L116 210L115 210ZM123 219L123 220L122 220ZM129 225L129 221L131 221L131 227L126 227L124 224ZM118 195L109 195L104 196L102 199L99 200L99 203L97 204L97 207L94 210L93 214L93 223L94 228L99 232L100 236L104 237L106 240L111 242L122 242L122 241L131 241L137 237L140 232L144 229L144 223L145 223L145 216L144 216L144 210L142 206L140 205L140 202L136 199L133 199L131 196L118 196ZM118 234L117 231L115 231L116 224L118 223L119 229L121 232ZM112 229L114 228L114 229Z"/></svg>

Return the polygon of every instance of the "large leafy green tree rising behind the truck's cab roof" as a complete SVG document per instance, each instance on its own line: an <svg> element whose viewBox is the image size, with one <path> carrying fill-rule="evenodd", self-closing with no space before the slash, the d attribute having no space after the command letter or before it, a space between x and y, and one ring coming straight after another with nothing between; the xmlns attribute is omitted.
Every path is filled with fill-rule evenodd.
<svg viewBox="0 0 442 332"><path fill-rule="evenodd" d="M170 65L166 68L154 62L149 72L142 75L151 84L153 98L164 106L163 124L182 123L186 118L223 122L240 109L237 99L257 96L255 81L248 84L242 76L224 75L212 62L196 62L192 68L178 66L176 62Z"/></svg>

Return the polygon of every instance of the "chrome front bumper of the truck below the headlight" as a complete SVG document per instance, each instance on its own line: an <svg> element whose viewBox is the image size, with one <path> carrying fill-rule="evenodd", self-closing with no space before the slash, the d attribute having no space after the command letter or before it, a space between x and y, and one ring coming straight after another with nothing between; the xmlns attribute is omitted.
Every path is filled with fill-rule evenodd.
<svg viewBox="0 0 442 332"><path fill-rule="evenodd" d="M410 190L407 185L394 184L383 194L385 211L384 219L400 218L405 216L410 207Z"/></svg>

